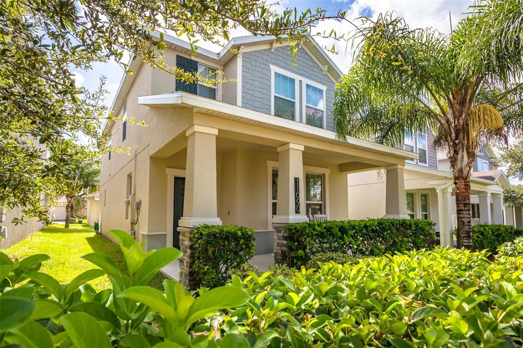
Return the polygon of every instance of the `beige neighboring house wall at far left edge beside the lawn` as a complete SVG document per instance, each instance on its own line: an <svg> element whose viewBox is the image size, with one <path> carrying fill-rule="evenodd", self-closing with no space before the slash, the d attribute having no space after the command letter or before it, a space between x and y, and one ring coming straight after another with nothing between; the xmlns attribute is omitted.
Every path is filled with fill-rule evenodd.
<svg viewBox="0 0 523 348"><path fill-rule="evenodd" d="M47 204L47 196L41 195L43 205ZM35 218L25 218L24 223L15 224L14 219L20 219L22 209L16 206L12 210L0 208L0 249L12 246L14 243L30 236L32 233L40 230L44 224Z"/></svg>

